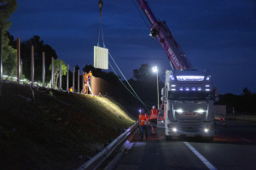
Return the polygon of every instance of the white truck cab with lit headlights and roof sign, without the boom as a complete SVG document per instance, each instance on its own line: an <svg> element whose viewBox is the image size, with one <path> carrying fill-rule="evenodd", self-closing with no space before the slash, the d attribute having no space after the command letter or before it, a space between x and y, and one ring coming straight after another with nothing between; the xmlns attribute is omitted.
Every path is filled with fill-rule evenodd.
<svg viewBox="0 0 256 170"><path fill-rule="evenodd" d="M214 88L209 71L166 71L162 88L166 139L213 136Z"/></svg>

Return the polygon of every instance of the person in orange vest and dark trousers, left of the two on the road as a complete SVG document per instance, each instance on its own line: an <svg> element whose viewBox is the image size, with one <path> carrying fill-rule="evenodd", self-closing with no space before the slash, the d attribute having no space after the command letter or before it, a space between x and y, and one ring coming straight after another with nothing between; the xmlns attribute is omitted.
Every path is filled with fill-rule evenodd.
<svg viewBox="0 0 256 170"><path fill-rule="evenodd" d="M140 132L141 132L141 140L143 140L144 137L144 132L146 135L146 140L148 140L148 114L145 113L143 109L140 110L139 114L139 127L140 127Z"/></svg>

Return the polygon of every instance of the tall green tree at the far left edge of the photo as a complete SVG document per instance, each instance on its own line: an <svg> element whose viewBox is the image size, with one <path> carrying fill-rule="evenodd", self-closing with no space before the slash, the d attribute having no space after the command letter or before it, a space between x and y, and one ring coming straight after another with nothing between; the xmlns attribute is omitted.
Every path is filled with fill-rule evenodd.
<svg viewBox="0 0 256 170"><path fill-rule="evenodd" d="M1 40L3 42L3 74L14 76L16 72L17 59L16 50L9 45L9 38L6 31L9 29L9 16L17 8L16 0L0 0L0 29L2 30Z"/></svg>

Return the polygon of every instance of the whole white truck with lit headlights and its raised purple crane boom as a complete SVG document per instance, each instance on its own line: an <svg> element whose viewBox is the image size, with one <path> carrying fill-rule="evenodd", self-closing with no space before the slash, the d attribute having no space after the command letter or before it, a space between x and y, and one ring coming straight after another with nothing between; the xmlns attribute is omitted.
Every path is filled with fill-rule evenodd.
<svg viewBox="0 0 256 170"><path fill-rule="evenodd" d="M210 71L195 69L172 36L166 21L156 20L148 3L137 0L151 27L150 36L158 37L172 69L166 71L161 89L166 140L180 136L201 136L212 140L214 135L213 103L218 99Z"/></svg>

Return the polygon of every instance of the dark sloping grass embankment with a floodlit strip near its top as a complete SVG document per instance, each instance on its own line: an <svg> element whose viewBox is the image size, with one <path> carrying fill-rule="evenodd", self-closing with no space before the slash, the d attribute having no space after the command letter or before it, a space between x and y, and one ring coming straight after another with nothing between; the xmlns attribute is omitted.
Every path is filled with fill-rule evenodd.
<svg viewBox="0 0 256 170"><path fill-rule="evenodd" d="M0 169L76 169L133 123L113 99L35 92L0 82Z"/></svg>

